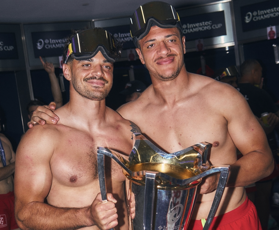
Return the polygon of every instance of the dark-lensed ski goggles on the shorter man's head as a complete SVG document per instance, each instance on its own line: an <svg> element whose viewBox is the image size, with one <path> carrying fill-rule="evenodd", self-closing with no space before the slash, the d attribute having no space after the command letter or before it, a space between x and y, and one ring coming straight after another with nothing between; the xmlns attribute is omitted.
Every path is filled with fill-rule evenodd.
<svg viewBox="0 0 279 230"><path fill-rule="evenodd" d="M115 62L121 54L114 38L106 30L101 28L83 30L72 38L64 63L67 63L70 55L80 61L93 58L99 51L111 62Z"/></svg>

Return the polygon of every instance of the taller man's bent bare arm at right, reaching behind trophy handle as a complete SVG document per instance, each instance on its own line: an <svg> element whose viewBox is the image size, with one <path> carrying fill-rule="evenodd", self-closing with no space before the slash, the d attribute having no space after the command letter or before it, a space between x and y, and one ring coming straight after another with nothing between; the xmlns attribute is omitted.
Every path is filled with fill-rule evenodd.
<svg viewBox="0 0 279 230"><path fill-rule="evenodd" d="M231 103L223 107L228 131L243 157L231 165L228 187L246 186L273 171L273 157L266 135L246 100L232 91Z"/></svg>

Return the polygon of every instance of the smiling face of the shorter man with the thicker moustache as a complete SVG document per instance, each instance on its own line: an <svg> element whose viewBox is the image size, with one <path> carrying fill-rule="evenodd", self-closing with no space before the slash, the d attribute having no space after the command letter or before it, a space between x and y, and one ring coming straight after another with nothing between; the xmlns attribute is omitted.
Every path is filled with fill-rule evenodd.
<svg viewBox="0 0 279 230"><path fill-rule="evenodd" d="M65 70L64 70L65 69ZM103 100L112 87L113 63L99 51L93 58L63 65L64 76L71 81L74 90L90 100Z"/></svg>

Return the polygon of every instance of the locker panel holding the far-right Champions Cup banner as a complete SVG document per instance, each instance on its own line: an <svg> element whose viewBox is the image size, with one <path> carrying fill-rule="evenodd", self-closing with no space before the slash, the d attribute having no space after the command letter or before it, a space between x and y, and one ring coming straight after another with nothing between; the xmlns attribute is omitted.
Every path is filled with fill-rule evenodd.
<svg viewBox="0 0 279 230"><path fill-rule="evenodd" d="M234 13L239 41L266 39L266 28L270 26L276 26L276 31L279 31L278 0L235 0Z"/></svg>

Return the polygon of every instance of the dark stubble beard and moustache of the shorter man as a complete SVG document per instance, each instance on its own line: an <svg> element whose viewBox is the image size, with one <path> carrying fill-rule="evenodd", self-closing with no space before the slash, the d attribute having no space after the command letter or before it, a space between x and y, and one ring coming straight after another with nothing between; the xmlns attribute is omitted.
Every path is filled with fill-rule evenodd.
<svg viewBox="0 0 279 230"><path fill-rule="evenodd" d="M93 85L91 86L91 88L93 90L90 90L86 87L86 85L82 85L80 82L78 82L77 78L75 75L72 75L72 84L74 87L74 90L76 90L76 92L81 95L82 97L89 99L89 100L103 100L107 97L107 95L109 94L111 88L112 88L112 83L109 83L107 80L105 80L103 77L88 77L88 78L84 78L83 81L87 82L88 80L102 80L105 82L105 85L107 85L107 87L105 87L104 89L102 87ZM99 89L102 89L102 91L100 91Z"/></svg>

